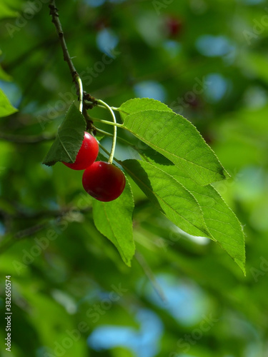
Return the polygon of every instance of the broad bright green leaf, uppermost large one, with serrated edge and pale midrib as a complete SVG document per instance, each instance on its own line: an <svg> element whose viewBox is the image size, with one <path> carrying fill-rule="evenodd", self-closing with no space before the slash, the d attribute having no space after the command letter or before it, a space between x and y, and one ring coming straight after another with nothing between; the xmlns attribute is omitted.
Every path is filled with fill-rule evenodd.
<svg viewBox="0 0 268 357"><path fill-rule="evenodd" d="M200 185L228 176L195 126L183 116L169 111L139 111L125 117L124 127Z"/></svg>

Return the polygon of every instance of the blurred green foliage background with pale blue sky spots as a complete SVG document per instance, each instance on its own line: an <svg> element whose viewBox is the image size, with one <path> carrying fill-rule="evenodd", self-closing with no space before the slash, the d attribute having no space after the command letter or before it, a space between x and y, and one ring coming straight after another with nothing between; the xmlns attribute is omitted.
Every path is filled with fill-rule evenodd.
<svg viewBox="0 0 268 357"><path fill-rule="evenodd" d="M232 175L215 187L244 226L246 277L134 183L137 255L126 267L94 228L81 173L41 164L77 100L48 3L0 2L0 88L19 109L0 119L1 356L268 356L267 2L56 1L86 91L111 106L164 101ZM116 156L137 154L119 143Z"/></svg>

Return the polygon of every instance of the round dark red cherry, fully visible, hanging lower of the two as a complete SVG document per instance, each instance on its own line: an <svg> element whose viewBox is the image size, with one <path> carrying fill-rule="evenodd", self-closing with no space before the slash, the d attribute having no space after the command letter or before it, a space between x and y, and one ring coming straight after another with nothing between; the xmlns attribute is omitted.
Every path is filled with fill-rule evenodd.
<svg viewBox="0 0 268 357"><path fill-rule="evenodd" d="M104 161L96 161L83 174L82 183L90 196L98 201L114 201L124 191L126 178L116 166Z"/></svg>

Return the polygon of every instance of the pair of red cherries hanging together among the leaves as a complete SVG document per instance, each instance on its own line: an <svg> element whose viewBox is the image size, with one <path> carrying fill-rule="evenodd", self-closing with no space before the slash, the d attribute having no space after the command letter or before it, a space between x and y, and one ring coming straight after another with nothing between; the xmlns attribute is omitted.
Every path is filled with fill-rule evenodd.
<svg viewBox="0 0 268 357"><path fill-rule="evenodd" d="M95 161L98 154L96 139L85 131L74 164L64 162L64 165L73 170L84 170L82 183L90 196L103 202L114 201L124 191L126 178L118 167L104 161Z"/></svg>

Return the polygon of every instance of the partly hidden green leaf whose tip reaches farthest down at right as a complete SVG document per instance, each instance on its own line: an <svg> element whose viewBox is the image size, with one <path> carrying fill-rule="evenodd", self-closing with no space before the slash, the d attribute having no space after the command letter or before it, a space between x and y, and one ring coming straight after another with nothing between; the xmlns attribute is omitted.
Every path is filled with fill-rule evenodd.
<svg viewBox="0 0 268 357"><path fill-rule="evenodd" d="M204 222L210 236L231 256L245 273L244 232L234 212L227 206L222 196L212 185L199 186L192 178L185 175L177 166L170 165L161 154L152 149L144 151L144 155L159 169L182 183L196 198L204 215Z"/></svg>

